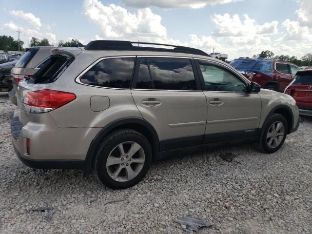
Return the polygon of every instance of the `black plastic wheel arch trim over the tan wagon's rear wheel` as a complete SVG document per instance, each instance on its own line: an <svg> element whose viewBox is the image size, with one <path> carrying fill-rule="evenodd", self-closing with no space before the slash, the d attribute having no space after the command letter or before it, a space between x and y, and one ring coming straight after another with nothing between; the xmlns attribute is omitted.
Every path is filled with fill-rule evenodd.
<svg viewBox="0 0 312 234"><path fill-rule="evenodd" d="M120 118L103 127L92 140L85 158L86 171L92 171L95 153L104 137L118 129L125 128L136 130L146 137L151 144L153 155L159 152L159 138L155 128L149 122L139 117Z"/></svg>

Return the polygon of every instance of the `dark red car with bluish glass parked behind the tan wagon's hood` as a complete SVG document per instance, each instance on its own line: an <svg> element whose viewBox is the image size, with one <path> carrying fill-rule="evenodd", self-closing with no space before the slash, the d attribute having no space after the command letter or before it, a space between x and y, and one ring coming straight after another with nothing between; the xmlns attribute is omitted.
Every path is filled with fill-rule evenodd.
<svg viewBox="0 0 312 234"><path fill-rule="evenodd" d="M235 59L230 63L243 75L262 88L284 92L300 68L277 59Z"/></svg>

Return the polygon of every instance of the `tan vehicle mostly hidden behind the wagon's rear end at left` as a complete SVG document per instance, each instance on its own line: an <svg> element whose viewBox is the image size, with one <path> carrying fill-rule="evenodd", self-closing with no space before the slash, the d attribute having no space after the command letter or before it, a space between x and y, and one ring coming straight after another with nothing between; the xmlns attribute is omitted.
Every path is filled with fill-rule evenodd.
<svg viewBox="0 0 312 234"><path fill-rule="evenodd" d="M20 57L12 73L12 90L9 92L9 99L17 105L17 98L15 96L20 80L30 78L38 69L40 63L51 55L51 49L55 47L42 46L26 48L26 53Z"/></svg>

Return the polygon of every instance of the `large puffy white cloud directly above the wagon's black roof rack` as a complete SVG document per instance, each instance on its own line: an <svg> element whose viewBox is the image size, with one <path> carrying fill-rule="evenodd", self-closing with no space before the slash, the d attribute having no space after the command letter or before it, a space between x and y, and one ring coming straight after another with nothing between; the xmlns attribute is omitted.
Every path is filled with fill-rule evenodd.
<svg viewBox="0 0 312 234"><path fill-rule="evenodd" d="M108 39L166 37L167 34L161 17L149 8L138 9L132 14L115 4L105 6L98 0L85 0L83 14Z"/></svg>

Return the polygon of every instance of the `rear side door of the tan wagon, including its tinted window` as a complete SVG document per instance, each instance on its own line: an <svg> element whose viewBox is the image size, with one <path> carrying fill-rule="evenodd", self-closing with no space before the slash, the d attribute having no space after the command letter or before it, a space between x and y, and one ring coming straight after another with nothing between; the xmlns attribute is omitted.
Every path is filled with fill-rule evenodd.
<svg viewBox="0 0 312 234"><path fill-rule="evenodd" d="M132 96L160 151L201 144L207 103L192 58L137 57Z"/></svg>

